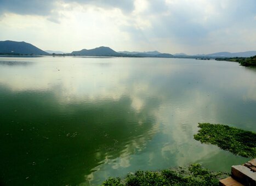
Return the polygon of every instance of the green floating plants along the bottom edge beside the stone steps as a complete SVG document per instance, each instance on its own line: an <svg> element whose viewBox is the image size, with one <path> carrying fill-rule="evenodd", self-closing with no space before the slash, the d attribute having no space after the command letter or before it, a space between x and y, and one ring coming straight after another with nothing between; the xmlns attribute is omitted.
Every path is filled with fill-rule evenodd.
<svg viewBox="0 0 256 186"><path fill-rule="evenodd" d="M200 164L157 172L136 171L121 178L109 178L102 185L219 185L227 173L211 172Z"/></svg>

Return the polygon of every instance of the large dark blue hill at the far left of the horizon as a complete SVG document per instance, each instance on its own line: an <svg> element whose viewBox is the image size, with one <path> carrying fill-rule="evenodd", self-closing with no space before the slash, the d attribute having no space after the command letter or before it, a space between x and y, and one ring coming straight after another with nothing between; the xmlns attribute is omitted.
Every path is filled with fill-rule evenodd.
<svg viewBox="0 0 256 186"><path fill-rule="evenodd" d="M0 54L12 55L49 55L49 53L38 49L38 47L24 41L0 41Z"/></svg>

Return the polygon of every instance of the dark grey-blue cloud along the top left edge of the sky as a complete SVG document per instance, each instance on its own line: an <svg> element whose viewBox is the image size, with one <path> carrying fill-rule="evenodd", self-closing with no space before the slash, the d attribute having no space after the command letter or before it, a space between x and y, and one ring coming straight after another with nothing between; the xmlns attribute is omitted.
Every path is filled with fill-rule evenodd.
<svg viewBox="0 0 256 186"><path fill-rule="evenodd" d="M43 15L47 16L57 8L57 3L78 3L81 5L95 5L101 8L120 8L124 12L134 9L133 1L103 1L103 0L0 0L0 15L3 13L15 13L21 15Z"/></svg>

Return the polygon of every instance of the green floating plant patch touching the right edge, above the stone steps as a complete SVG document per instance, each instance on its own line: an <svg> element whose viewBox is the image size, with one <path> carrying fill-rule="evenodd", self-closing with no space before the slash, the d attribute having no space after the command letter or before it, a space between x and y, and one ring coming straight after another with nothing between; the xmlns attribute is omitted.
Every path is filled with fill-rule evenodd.
<svg viewBox="0 0 256 186"><path fill-rule="evenodd" d="M198 123L194 139L217 145L225 151L247 158L256 158L256 133L223 124Z"/></svg>

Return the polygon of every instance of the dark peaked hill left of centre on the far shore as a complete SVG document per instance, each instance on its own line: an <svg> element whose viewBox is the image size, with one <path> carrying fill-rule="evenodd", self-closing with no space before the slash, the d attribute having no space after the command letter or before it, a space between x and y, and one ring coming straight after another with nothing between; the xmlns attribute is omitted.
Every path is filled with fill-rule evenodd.
<svg viewBox="0 0 256 186"><path fill-rule="evenodd" d="M95 49L83 49L80 51L73 51L71 55L77 56L121 56L120 53L110 49L110 47L100 46Z"/></svg>

